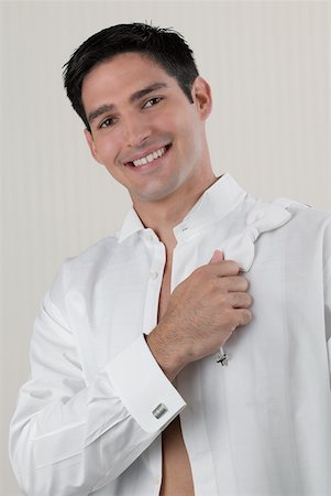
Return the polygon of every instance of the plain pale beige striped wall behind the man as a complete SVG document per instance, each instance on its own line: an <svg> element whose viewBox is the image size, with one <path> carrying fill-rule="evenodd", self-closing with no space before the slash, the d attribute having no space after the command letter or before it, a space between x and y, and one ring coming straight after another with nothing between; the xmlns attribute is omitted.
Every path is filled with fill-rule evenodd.
<svg viewBox="0 0 331 496"><path fill-rule="evenodd" d="M331 209L327 1L1 2L1 496L19 495L8 422L38 302L65 257L113 231L126 194L92 162L62 65L93 32L153 21L183 32L211 83L218 173ZM329 32L329 34L328 34Z"/></svg>

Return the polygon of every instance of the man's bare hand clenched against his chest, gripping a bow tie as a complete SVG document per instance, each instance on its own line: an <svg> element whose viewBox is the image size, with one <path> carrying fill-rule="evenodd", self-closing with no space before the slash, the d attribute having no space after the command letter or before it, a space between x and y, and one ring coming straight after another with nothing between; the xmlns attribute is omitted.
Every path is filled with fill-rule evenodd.
<svg viewBox="0 0 331 496"><path fill-rule="evenodd" d="M174 290L147 344L170 380L190 362L216 353L238 326L252 320L247 280L216 251Z"/></svg>

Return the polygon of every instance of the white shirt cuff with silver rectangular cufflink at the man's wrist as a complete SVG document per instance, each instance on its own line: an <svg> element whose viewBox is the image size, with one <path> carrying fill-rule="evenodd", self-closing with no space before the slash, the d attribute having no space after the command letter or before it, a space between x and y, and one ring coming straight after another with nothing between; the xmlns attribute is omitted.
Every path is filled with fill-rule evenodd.
<svg viewBox="0 0 331 496"><path fill-rule="evenodd" d="M162 371L140 335L104 368L129 413L151 433L162 431L186 402Z"/></svg>

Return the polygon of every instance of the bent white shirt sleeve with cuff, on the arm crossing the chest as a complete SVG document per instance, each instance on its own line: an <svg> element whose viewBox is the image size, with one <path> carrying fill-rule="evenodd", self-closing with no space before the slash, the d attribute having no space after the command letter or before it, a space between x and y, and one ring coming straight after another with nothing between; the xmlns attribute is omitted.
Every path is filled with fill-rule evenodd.
<svg viewBox="0 0 331 496"><path fill-rule="evenodd" d="M124 472L184 407L143 336L87 384L77 336L47 294L10 428L19 485L26 496L87 495Z"/></svg>

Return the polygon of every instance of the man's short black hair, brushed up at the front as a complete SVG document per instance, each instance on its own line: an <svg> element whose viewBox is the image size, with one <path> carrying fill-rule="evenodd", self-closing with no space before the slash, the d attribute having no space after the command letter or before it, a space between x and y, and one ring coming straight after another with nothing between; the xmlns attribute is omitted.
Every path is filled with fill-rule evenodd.
<svg viewBox="0 0 331 496"><path fill-rule="evenodd" d="M177 79L179 87L192 103L191 87L199 73L194 53L184 36L173 29L137 22L117 24L86 40L64 65L67 96L87 129L90 127L81 101L84 78L96 65L128 52L150 56L169 76Z"/></svg>

